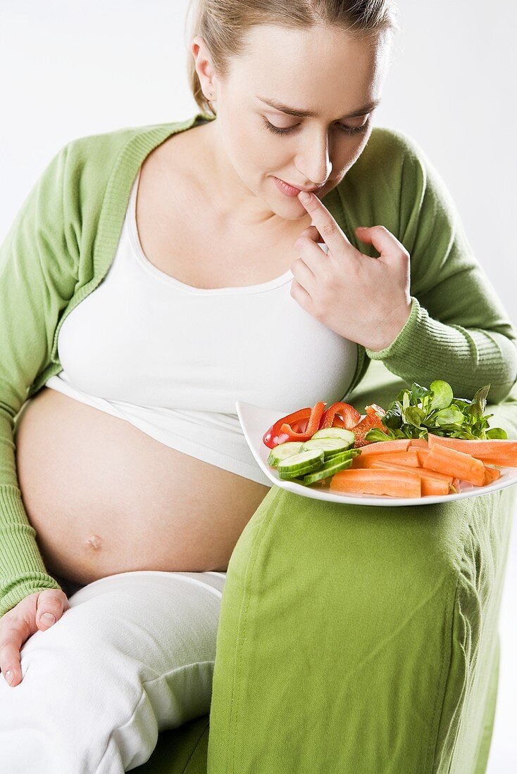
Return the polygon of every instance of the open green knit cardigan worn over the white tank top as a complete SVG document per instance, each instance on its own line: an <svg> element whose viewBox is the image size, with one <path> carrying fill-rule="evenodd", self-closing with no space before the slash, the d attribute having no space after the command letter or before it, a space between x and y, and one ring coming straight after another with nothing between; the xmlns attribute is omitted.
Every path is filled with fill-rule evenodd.
<svg viewBox="0 0 517 774"><path fill-rule="evenodd" d="M44 567L22 502L16 417L62 370L60 326L109 269L143 159L175 132L207 120L214 119L197 113L184 122L122 128L67 143L36 181L2 242L0 616L34 591L60 588ZM407 382L443 378L467 398L490 382L491 402L505 399L517 378L517 332L472 253L443 180L417 143L402 132L374 128L359 159L323 202L360 252L376 254L371 245L357 243L355 227L383 224L412 259L408 321L388 348L373 352L358 345L350 391L373 359Z"/></svg>

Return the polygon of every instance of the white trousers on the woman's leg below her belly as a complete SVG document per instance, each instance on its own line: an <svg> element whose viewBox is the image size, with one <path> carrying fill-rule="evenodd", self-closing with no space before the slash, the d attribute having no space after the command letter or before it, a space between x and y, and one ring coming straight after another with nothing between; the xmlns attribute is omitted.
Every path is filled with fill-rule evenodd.
<svg viewBox="0 0 517 774"><path fill-rule="evenodd" d="M0 675L0 772L119 774L208 713L225 580L136 570L80 587L22 646L21 683Z"/></svg>

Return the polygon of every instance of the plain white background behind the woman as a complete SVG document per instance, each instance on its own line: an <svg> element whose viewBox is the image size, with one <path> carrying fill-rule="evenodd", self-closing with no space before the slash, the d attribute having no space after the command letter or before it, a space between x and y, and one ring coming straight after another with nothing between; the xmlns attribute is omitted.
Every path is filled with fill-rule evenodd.
<svg viewBox="0 0 517 774"><path fill-rule="evenodd" d="M287 0L286 0L287 2ZM402 33L375 123L419 142L453 194L477 259L517 322L517 3L400 0ZM0 6L0 239L65 142L183 121L186 0L16 0ZM488 774L517 770L517 536L501 608Z"/></svg>

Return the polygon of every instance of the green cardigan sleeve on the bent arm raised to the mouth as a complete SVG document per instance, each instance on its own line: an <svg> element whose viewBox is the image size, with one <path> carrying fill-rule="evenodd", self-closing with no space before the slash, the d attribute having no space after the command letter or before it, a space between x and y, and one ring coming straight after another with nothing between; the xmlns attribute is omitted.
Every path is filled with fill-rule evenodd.
<svg viewBox="0 0 517 774"><path fill-rule="evenodd" d="M517 379L515 328L433 164L408 135L381 131L402 146L391 206L398 204L395 235L411 255L412 308L395 341L366 354L405 382L442 378L464 398L490 383L489 401L501 402Z"/></svg>

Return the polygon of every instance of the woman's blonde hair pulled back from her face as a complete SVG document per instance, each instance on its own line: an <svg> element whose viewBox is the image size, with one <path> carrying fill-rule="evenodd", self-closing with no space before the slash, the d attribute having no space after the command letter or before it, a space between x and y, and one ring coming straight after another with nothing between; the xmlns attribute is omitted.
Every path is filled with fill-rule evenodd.
<svg viewBox="0 0 517 774"><path fill-rule="evenodd" d="M188 20L194 12L190 26ZM187 73L192 95L205 115L216 112L202 92L191 39L201 36L220 80L229 74L230 60L246 53L246 32L268 24L285 29L341 26L353 38L374 38L400 30L394 0L189 0Z"/></svg>

